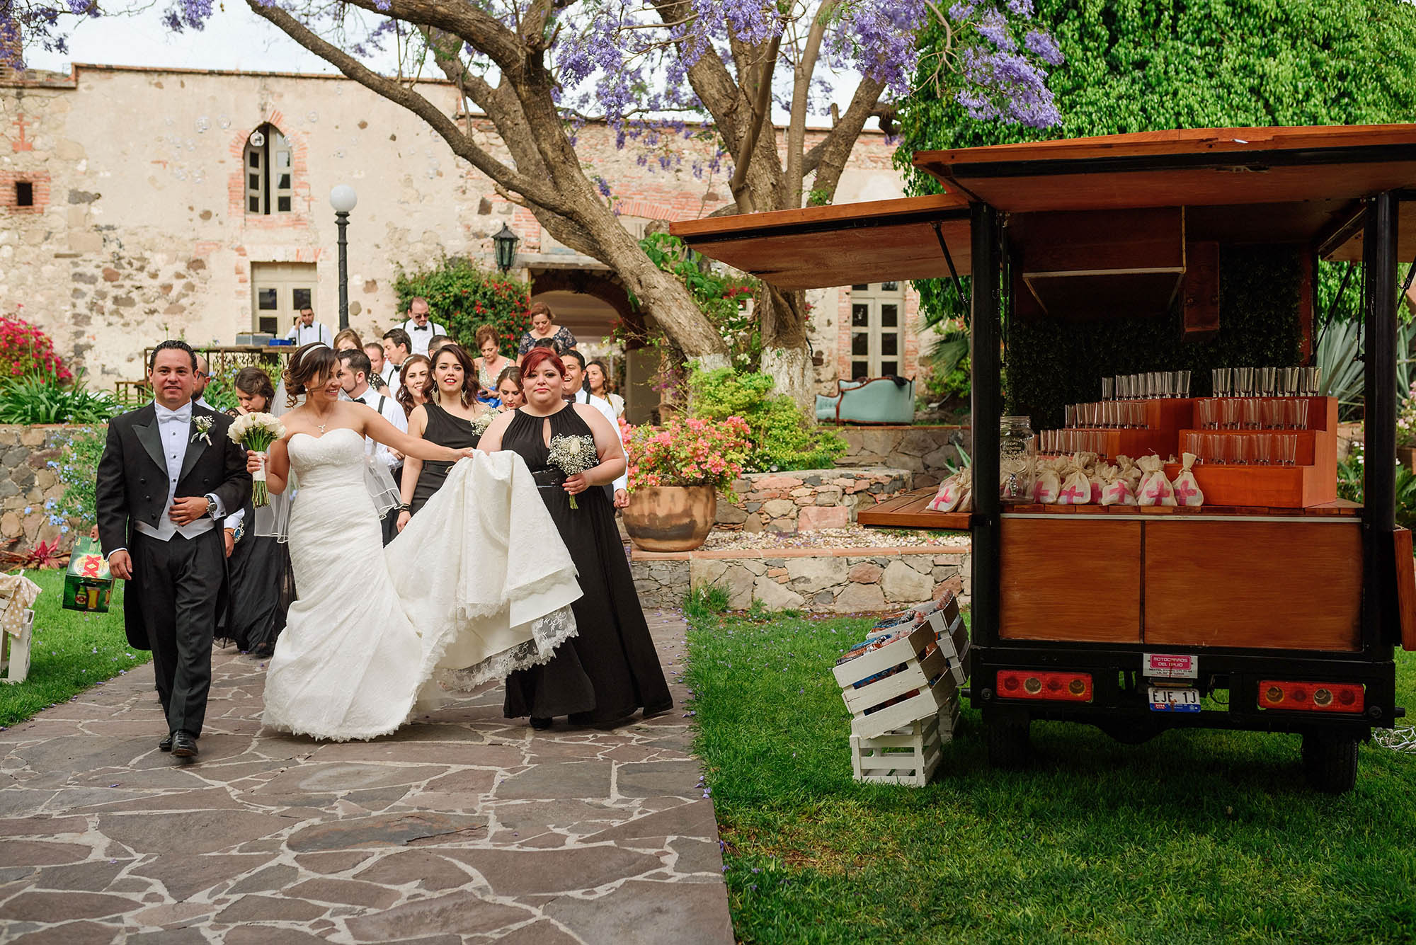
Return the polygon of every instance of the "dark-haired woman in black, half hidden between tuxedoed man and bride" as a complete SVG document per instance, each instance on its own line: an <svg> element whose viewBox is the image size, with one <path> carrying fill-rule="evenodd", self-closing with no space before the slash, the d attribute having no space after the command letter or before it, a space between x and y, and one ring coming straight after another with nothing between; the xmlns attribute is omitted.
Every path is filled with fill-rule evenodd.
<svg viewBox="0 0 1416 945"><path fill-rule="evenodd" d="M235 388L241 406L229 412L232 416L270 410L275 389L261 368L236 372ZM295 600L295 573L285 542L256 533L256 516L268 516L270 509L256 509L248 495L242 511L239 522L235 515L225 521L231 607L225 631L219 635L244 652L266 658L275 652L276 637L285 630L286 611Z"/></svg>

